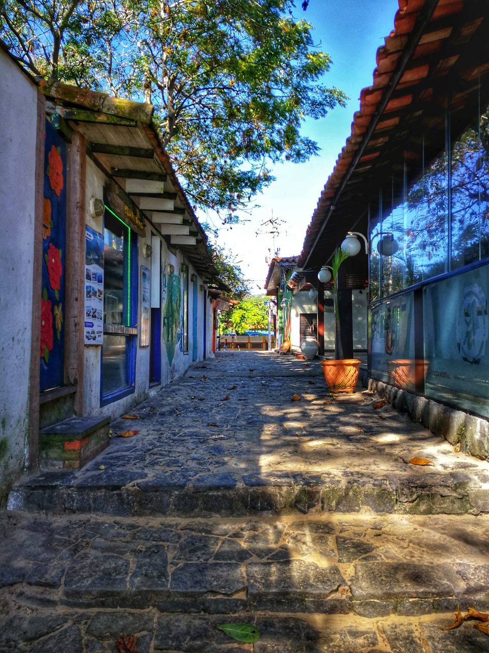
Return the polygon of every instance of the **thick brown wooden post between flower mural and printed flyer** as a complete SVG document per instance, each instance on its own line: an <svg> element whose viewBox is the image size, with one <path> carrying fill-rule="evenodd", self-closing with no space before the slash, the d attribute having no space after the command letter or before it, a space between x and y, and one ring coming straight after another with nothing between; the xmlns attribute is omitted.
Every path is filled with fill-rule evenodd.
<svg viewBox="0 0 489 653"><path fill-rule="evenodd" d="M68 150L65 382L76 385L74 411L83 415L86 141L72 133Z"/></svg>

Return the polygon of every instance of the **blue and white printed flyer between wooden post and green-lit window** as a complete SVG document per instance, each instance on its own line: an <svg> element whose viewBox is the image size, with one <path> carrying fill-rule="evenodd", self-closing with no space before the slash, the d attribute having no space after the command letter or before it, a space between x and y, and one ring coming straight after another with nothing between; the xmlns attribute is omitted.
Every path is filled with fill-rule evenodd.
<svg viewBox="0 0 489 653"><path fill-rule="evenodd" d="M85 345L102 345L104 337L104 238L85 232Z"/></svg>

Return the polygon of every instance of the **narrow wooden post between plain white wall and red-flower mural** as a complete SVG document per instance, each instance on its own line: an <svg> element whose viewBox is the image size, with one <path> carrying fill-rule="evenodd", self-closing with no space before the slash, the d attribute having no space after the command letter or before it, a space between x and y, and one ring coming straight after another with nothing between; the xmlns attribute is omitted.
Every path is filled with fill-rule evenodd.
<svg viewBox="0 0 489 653"><path fill-rule="evenodd" d="M33 296L31 323L31 385L29 387L29 453L30 471L37 468L39 460L39 374L40 374L40 314L42 293L42 199L44 197L44 135L46 133L46 99L37 96L37 141L35 216L33 237Z"/></svg>

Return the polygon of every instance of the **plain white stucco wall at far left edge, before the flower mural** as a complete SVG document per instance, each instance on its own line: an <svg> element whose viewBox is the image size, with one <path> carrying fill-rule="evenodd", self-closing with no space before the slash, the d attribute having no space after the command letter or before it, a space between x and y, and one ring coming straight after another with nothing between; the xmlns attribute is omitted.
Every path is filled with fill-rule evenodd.
<svg viewBox="0 0 489 653"><path fill-rule="evenodd" d="M0 496L21 473L29 427L37 87L0 50Z"/></svg>

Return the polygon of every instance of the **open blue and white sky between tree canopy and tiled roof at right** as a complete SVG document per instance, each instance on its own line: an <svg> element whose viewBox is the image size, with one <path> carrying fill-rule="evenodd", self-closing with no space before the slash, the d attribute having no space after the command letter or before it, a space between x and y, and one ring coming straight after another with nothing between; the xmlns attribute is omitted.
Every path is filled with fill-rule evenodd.
<svg viewBox="0 0 489 653"><path fill-rule="evenodd" d="M258 195L250 220L233 229L220 229L218 244L235 255L235 261L250 279L253 294L263 293L267 275L265 255L272 247L270 236L256 236L259 224L272 215L285 221L275 241L281 256L301 252L306 228L316 208L321 190L333 171L341 148L350 135L353 113L359 109L360 91L372 84L377 48L394 27L398 0L310 0L308 10L296 11L314 27L314 42L333 59L325 75L327 86L336 86L349 97L346 108L336 108L326 118L304 123L304 133L321 147L318 157L307 163L283 163L273 169L274 182ZM201 216L203 217L203 216ZM212 216L207 218L211 222ZM220 223L214 219L216 227Z"/></svg>

